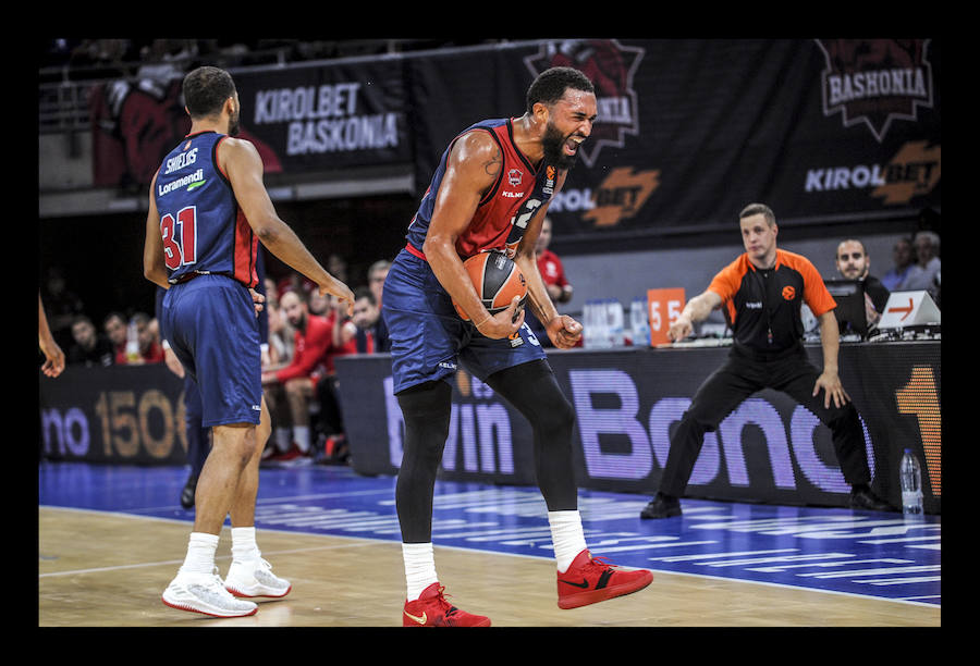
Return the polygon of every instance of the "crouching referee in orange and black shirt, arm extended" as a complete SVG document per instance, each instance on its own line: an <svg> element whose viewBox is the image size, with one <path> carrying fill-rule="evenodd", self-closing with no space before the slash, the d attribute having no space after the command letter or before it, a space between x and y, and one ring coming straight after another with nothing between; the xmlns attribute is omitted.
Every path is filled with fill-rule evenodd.
<svg viewBox="0 0 980 666"><path fill-rule="evenodd" d="M808 259L776 248L779 227L768 206L751 203L738 219L745 254L722 269L707 291L691 298L670 329L672 340L683 340L694 322L724 307L734 345L727 362L698 388L674 431L660 490L640 517L681 515L679 498L705 433L762 388L786 393L830 428L841 471L852 486L853 508L894 510L871 492L860 419L837 375L837 304ZM804 301L820 322L823 371L810 362L803 346Z"/></svg>

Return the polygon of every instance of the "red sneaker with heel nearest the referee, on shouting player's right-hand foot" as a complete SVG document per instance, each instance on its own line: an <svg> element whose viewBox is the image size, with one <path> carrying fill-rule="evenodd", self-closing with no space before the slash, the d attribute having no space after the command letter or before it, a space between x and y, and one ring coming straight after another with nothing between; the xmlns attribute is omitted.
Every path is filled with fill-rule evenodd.
<svg viewBox="0 0 980 666"><path fill-rule="evenodd" d="M577 608L588 604L637 592L653 581L646 569L621 569L579 553L568 570L558 575L559 608Z"/></svg>

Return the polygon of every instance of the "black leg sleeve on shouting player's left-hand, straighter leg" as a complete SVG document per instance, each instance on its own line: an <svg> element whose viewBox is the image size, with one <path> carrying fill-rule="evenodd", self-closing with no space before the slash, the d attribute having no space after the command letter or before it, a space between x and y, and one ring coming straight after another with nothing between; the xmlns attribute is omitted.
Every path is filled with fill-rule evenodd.
<svg viewBox="0 0 980 666"><path fill-rule="evenodd" d="M427 382L399 393L405 419L404 452L395 485L402 542L432 541L432 494L452 412L452 387Z"/></svg>

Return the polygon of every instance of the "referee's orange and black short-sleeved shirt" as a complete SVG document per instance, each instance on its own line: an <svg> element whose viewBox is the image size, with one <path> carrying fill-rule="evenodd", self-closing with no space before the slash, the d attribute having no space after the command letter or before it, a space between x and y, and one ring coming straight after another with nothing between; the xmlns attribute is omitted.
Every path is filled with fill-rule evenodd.
<svg viewBox="0 0 980 666"><path fill-rule="evenodd" d="M748 255L723 268L708 289L722 298L735 343L759 351L782 351L799 344L800 306L814 317L837 307L809 259L776 249L775 266L758 269Z"/></svg>

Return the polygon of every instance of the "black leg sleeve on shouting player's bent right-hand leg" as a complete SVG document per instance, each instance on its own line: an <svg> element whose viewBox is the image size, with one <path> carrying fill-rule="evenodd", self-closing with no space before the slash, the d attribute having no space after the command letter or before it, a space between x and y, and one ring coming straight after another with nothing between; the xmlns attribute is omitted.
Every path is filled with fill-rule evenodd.
<svg viewBox="0 0 980 666"><path fill-rule="evenodd" d="M495 372L487 385L530 422L535 474L550 511L578 508L572 460L575 410L546 361L522 363Z"/></svg>

